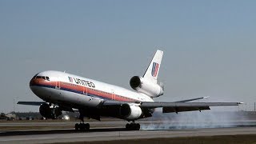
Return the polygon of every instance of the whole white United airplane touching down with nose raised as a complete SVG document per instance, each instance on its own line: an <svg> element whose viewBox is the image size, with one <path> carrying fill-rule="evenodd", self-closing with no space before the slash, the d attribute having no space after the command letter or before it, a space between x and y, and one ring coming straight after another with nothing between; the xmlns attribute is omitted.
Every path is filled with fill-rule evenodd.
<svg viewBox="0 0 256 144"><path fill-rule="evenodd" d="M151 117L154 109L162 107L162 113L210 110L210 106L238 106L242 102L190 102L202 98L186 99L178 102L154 102L164 92L162 82L158 82L158 72L162 61L161 50L157 50L143 77L134 76L130 86L135 90L82 78L60 71L43 71L30 80L30 89L44 102L18 102L22 105L40 106L39 112L45 118L56 118L62 111L79 111L81 122L75 130L89 130L90 125L83 118L100 120L102 116L121 118L131 123L127 130L139 130L135 120Z"/></svg>

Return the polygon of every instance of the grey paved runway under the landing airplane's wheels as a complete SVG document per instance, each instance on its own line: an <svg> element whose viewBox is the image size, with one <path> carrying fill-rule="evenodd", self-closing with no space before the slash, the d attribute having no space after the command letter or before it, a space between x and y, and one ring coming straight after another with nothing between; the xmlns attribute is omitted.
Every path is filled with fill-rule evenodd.
<svg viewBox="0 0 256 144"><path fill-rule="evenodd" d="M188 129L188 130L139 130L126 131L122 128L92 129L88 132L74 130L32 132L28 135L1 136L0 143L54 143L54 142L92 142L136 138L177 138L216 135L256 134L256 127ZM33 134L34 133L34 134Z"/></svg>

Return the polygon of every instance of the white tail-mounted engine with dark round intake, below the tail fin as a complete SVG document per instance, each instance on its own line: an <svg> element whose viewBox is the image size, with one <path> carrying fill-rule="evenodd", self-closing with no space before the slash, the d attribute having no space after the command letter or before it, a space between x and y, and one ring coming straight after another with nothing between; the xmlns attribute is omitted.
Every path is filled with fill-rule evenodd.
<svg viewBox="0 0 256 144"><path fill-rule="evenodd" d="M146 94L150 97L159 97L163 94L162 82L154 83L138 76L130 78L130 86L139 93Z"/></svg>

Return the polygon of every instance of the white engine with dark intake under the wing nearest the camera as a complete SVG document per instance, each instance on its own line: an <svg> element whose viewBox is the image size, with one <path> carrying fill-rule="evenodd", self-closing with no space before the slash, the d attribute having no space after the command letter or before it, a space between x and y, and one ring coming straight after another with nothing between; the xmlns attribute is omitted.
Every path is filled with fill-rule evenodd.
<svg viewBox="0 0 256 144"><path fill-rule="evenodd" d="M142 109L133 104L123 104L120 107L120 115L127 120L135 120L142 116Z"/></svg>

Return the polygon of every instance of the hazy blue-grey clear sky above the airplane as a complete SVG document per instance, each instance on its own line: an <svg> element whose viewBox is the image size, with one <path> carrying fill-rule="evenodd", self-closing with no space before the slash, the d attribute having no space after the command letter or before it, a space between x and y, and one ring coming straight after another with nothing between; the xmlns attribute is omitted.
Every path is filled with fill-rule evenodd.
<svg viewBox="0 0 256 144"><path fill-rule="evenodd" d="M130 89L156 50L172 102L246 102L256 86L256 2L0 0L0 112L38 111L34 74L60 70ZM226 108L222 108L226 109ZM238 108L233 107L237 110Z"/></svg>

